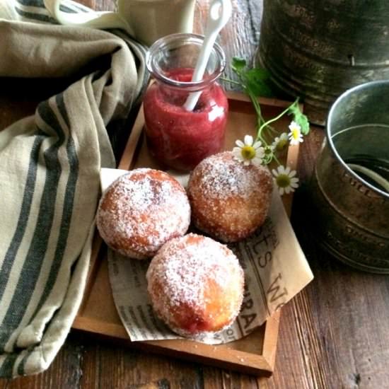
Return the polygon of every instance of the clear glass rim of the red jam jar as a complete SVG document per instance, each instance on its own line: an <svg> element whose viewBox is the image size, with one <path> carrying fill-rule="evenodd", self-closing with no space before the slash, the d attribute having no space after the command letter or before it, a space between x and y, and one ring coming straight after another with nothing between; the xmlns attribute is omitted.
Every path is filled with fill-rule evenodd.
<svg viewBox="0 0 389 389"><path fill-rule="evenodd" d="M156 79L158 79L159 81L163 81L164 83L167 83L170 86L185 87L190 89L204 88L210 83L216 81L216 79L219 79L219 76L226 68L226 54L224 54L223 49L217 42L214 43L212 51L216 53L216 56L219 59L219 66L212 74L210 74L209 78L202 79L201 81L188 82L170 79L169 77L165 76L163 74L163 71L161 70L161 67L156 64L155 60L153 60L155 58L154 54L180 41L182 41L183 44L194 43L201 46L204 42L204 35L192 33L177 33L166 35L165 37L161 37L156 42L154 42L146 53L146 66L150 73L153 74Z"/></svg>

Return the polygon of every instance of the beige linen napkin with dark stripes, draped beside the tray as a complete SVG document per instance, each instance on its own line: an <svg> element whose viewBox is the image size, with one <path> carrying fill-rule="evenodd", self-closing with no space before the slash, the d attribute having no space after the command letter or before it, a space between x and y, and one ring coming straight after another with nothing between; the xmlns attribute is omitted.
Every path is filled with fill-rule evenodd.
<svg viewBox="0 0 389 389"><path fill-rule="evenodd" d="M111 124L146 81L144 47L114 33L54 25L42 0L0 0L0 77L73 80L0 132L1 377L50 366L81 303Z"/></svg>

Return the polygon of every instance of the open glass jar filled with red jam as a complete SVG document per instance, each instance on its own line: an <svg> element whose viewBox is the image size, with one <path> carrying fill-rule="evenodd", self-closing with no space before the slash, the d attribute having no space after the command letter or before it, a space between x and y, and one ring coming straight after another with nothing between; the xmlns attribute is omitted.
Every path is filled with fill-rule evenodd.
<svg viewBox="0 0 389 389"><path fill-rule="evenodd" d="M226 58L215 44L202 81L192 82L203 40L202 35L168 35L156 41L146 57L155 79L144 96L146 141L154 158L178 170L192 170L223 149L228 100L216 80ZM188 111L183 105L194 92L201 94Z"/></svg>

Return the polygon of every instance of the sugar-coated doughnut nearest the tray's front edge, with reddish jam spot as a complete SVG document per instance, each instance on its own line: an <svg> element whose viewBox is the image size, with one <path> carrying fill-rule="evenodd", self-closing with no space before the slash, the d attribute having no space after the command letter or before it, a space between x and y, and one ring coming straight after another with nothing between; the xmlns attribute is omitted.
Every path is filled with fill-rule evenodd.
<svg viewBox="0 0 389 389"><path fill-rule="evenodd" d="M226 245L193 233L163 245L146 278L156 314L185 337L198 339L228 327L243 301L238 258Z"/></svg>

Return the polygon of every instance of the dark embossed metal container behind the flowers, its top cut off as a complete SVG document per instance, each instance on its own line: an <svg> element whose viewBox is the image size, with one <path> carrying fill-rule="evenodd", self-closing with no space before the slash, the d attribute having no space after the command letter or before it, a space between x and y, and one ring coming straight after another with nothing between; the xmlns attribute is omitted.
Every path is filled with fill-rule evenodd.
<svg viewBox="0 0 389 389"><path fill-rule="evenodd" d="M389 79L388 0L264 0L256 60L323 124L337 96Z"/></svg>

